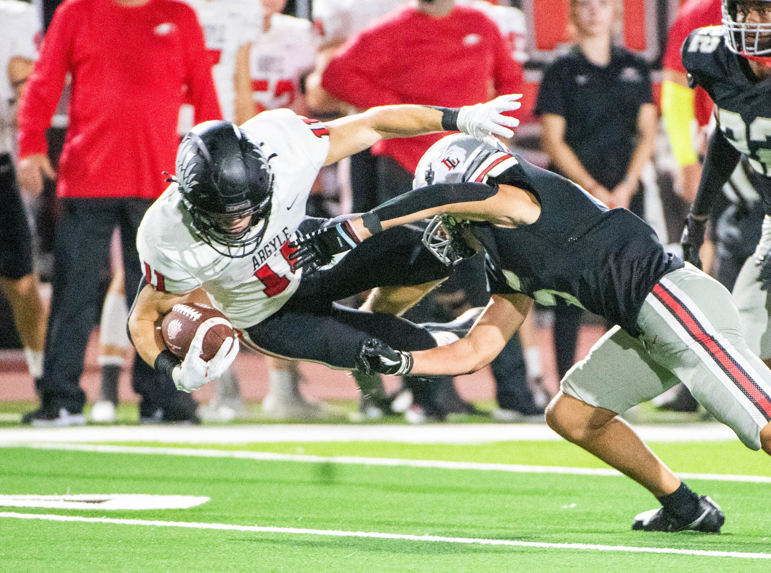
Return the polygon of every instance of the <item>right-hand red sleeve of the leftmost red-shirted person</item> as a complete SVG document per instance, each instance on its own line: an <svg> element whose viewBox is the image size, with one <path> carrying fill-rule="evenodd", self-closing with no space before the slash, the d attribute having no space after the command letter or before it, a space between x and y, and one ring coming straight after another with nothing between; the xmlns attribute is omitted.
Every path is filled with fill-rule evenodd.
<svg viewBox="0 0 771 573"><path fill-rule="evenodd" d="M185 7L187 8L187 6ZM192 8L187 8L187 101L195 110L195 123L221 120L222 110L214 89L214 76L206 51L204 29Z"/></svg>

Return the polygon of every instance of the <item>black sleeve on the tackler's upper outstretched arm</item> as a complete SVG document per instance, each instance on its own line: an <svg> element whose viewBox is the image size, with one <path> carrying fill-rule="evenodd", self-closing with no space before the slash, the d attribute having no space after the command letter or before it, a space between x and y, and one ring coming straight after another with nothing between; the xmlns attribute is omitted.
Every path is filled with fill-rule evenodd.
<svg viewBox="0 0 771 573"><path fill-rule="evenodd" d="M390 221L442 205L484 201L497 192L498 186L495 184L439 183L399 195L375 207L370 213L377 215L380 221Z"/></svg>

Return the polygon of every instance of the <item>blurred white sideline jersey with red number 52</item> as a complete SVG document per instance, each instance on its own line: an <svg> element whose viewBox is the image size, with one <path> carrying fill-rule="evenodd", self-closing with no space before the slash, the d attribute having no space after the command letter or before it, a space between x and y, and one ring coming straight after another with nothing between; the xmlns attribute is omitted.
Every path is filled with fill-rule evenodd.
<svg viewBox="0 0 771 573"><path fill-rule="evenodd" d="M311 22L284 14L251 44L249 73L254 101L266 110L289 107L300 93L300 76L312 69L319 38Z"/></svg>

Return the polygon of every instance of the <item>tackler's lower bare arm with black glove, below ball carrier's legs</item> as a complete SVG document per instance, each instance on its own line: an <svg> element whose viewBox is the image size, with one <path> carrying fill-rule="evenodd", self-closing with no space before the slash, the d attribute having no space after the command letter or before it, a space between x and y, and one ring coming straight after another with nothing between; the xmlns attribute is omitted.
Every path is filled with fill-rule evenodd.
<svg viewBox="0 0 771 573"><path fill-rule="evenodd" d="M533 300L526 295L493 295L468 335L446 346L418 352L391 349L377 339L365 342L359 370L382 374L460 376L483 369L520 328Z"/></svg>

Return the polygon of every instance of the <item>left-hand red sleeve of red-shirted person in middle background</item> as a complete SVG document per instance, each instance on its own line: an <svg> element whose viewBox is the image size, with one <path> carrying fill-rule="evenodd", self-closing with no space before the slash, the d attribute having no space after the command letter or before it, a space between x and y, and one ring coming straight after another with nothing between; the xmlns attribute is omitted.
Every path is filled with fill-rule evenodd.
<svg viewBox="0 0 771 573"><path fill-rule="evenodd" d="M348 40L322 73L322 87L359 110L402 103L399 94L378 81L388 72L379 66L383 59L382 46L375 46L371 37L376 33L372 29Z"/></svg>

